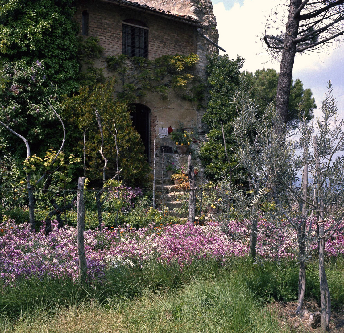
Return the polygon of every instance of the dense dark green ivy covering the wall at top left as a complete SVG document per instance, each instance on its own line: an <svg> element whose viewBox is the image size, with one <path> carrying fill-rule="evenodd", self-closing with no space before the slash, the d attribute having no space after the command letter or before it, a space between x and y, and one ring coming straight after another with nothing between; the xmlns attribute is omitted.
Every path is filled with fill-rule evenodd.
<svg viewBox="0 0 344 333"><path fill-rule="evenodd" d="M79 61L72 0L0 0L0 40L6 41L3 62L37 59L59 94L78 90Z"/></svg>

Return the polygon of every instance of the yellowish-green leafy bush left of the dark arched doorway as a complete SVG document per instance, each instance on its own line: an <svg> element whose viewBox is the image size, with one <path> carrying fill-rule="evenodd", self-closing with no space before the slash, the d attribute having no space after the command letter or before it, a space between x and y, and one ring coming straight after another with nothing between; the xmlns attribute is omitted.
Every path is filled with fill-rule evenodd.
<svg viewBox="0 0 344 333"><path fill-rule="evenodd" d="M103 178L104 160L99 154L101 138L95 115L96 109L103 124L103 152L108 159L107 172L115 174L117 171L115 137L112 135L117 130L120 176L126 184L142 183L150 168L144 156L140 135L132 127L127 104L113 100L115 83L115 79L110 79L105 84L96 85L93 89L82 87L78 95L64 100L62 115L67 127L65 149L75 156L82 156L85 131L87 177L94 182L98 180L100 183Z"/></svg>

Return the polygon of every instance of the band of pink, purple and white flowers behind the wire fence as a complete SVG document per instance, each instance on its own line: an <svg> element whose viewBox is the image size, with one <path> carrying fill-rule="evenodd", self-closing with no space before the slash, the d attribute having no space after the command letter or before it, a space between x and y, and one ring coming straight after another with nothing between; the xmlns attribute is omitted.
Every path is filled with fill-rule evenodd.
<svg viewBox="0 0 344 333"><path fill-rule="evenodd" d="M182 268L195 258L213 258L226 264L231 256L249 253L247 221L230 221L224 228L219 222L206 225L151 224L148 227L108 228L85 231L88 280L101 280L110 268L143 265L157 260ZM296 258L297 242L292 229L274 228L261 219L258 225L257 252L267 259ZM311 247L316 248L316 243ZM343 235L326 242L326 254L344 254ZM28 224L8 220L0 225L0 275L6 285L30 276L78 279L76 228L66 225L52 232L31 233Z"/></svg>

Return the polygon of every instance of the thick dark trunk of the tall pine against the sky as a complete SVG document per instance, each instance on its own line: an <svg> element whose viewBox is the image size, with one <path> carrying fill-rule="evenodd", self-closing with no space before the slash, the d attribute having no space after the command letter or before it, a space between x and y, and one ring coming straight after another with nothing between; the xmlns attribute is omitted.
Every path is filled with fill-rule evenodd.
<svg viewBox="0 0 344 333"><path fill-rule="evenodd" d="M296 52L296 43L293 42L293 39L298 36L300 22L300 14L295 16L295 12L300 7L301 3L302 0L290 0L276 95L276 112L281 124L287 123L288 119L291 75ZM275 130L279 133L282 132L281 124L274 124Z"/></svg>

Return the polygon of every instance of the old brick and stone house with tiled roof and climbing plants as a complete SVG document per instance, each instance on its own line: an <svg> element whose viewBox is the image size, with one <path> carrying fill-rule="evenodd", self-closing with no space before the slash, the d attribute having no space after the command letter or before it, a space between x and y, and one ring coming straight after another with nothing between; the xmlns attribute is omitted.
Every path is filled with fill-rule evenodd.
<svg viewBox="0 0 344 333"><path fill-rule="evenodd" d="M153 60L193 53L199 57L194 75L206 83L206 56L217 52L218 41L210 0L76 0L75 4L79 34L98 37L105 48L97 63L105 69L105 76L113 75L105 61L109 56L124 53ZM192 89L187 93L192 95ZM144 142L149 163L153 164L155 140L155 156L160 162L161 147L165 146L165 162L184 164L187 156L177 154L174 143L163 133L170 126L177 129L183 124L202 137L206 133L201 121L205 106L196 107L197 103L181 98L173 89L168 99L148 92L134 104L133 125Z"/></svg>

